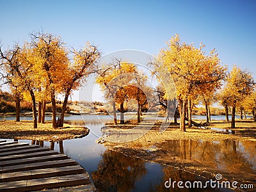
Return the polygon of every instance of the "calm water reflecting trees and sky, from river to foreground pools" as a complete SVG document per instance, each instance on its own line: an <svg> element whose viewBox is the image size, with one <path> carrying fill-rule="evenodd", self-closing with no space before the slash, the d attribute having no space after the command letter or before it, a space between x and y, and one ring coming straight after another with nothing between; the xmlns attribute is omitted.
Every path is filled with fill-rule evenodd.
<svg viewBox="0 0 256 192"><path fill-rule="evenodd" d="M30 120L29 118L31 117L26 117L24 120ZM50 120L51 117L47 118ZM46 141L44 141L44 146L54 147L54 150L64 152L81 164L88 171L99 191L170 191L164 187L164 182L170 178L177 181L214 179L212 176L203 178L173 167L178 164L192 164L215 170L215 173L224 175L231 173L236 177L239 177L240 172L248 175L244 178L245 180L256 184L256 142L172 140L154 143L156 148L161 148L162 151L157 155L163 159L175 159L173 166L162 166L124 156L124 154L107 150L96 143L95 140L102 135L100 128L104 123L111 122L109 116L73 115L67 116L65 120L69 124L76 125L84 125L86 122L86 126L90 128L90 134L81 139L63 141L63 148L60 148L60 143ZM31 143L29 140L19 141ZM154 155L154 152L152 154ZM208 188L205 191L212 190ZM172 191L180 190L176 186ZM227 190L221 189L221 191Z"/></svg>

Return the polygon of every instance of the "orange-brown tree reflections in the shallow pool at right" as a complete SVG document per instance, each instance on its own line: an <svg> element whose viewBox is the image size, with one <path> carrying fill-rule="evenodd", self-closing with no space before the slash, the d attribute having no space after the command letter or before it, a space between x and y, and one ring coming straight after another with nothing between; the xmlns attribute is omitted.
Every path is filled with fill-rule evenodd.
<svg viewBox="0 0 256 192"><path fill-rule="evenodd" d="M255 179L256 156L253 149L256 148L256 143L234 140L172 140L156 146L162 150L159 159L173 159L168 164L206 168L209 172L224 174L223 177L228 180L252 182Z"/></svg>

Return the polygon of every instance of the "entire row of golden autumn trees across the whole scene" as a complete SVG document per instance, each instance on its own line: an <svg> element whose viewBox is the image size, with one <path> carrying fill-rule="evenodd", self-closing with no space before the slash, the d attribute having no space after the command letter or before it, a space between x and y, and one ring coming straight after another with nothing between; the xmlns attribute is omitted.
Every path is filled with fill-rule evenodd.
<svg viewBox="0 0 256 192"><path fill-rule="evenodd" d="M180 114L180 130L186 131L186 120L191 127L192 110L196 104L205 105L207 123L209 106L220 102L226 109L232 107L231 127L235 127L236 108L241 111L252 109L256 120L256 92L252 74L234 67L230 73L227 66L220 64L213 49L209 54L205 45L196 48L193 44L180 42L179 35L172 36L166 47L161 49L157 60L150 62L153 74L159 80L155 94L147 86L147 76L129 61L115 59L113 63L98 68L100 52L87 43L79 51L69 50L59 36L48 33L32 33L31 41L3 51L0 47L3 76L15 93L17 120L21 96L33 102L34 127L36 102L38 122L44 122L45 103L52 104L52 127L63 126L68 97L86 81L89 74L98 72L96 83L104 91L106 99L113 105L114 122L116 104L119 105L120 123L124 124L124 103L134 99L138 104L138 122L141 107L150 108L151 103L166 108L168 116ZM56 120L56 95L64 96L60 121ZM178 103L178 105L177 105ZM175 110L178 106L179 110ZM174 109L174 110L173 110Z"/></svg>

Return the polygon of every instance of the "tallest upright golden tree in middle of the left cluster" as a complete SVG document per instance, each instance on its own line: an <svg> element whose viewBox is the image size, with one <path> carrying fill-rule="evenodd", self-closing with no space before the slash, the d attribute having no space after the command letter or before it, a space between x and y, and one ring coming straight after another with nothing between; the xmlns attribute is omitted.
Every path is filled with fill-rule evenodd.
<svg viewBox="0 0 256 192"><path fill-rule="evenodd" d="M45 79L45 89L49 90L52 103L52 127L58 127L56 121L56 94L68 77L68 51L60 36L50 33L32 33L29 44L35 63L37 76Z"/></svg>

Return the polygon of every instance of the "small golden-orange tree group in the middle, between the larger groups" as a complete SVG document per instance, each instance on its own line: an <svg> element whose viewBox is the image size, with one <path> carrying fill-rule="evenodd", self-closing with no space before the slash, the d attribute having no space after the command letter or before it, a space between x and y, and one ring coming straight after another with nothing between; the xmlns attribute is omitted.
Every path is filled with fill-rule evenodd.
<svg viewBox="0 0 256 192"><path fill-rule="evenodd" d="M138 104L137 121L140 123L141 107L148 105L152 90L146 85L147 76L136 65L115 59L110 65L101 68L96 83L104 92L106 99L113 105L114 123L116 120L116 103L120 105L120 124L124 124L124 102L134 99Z"/></svg>

